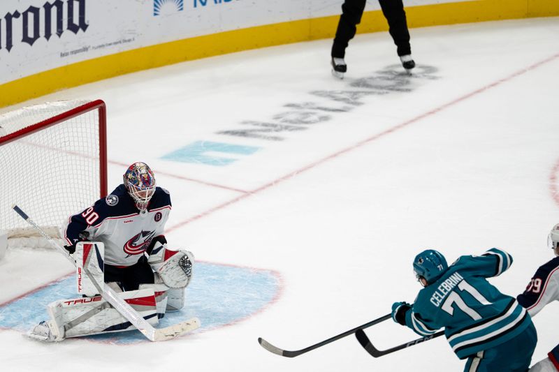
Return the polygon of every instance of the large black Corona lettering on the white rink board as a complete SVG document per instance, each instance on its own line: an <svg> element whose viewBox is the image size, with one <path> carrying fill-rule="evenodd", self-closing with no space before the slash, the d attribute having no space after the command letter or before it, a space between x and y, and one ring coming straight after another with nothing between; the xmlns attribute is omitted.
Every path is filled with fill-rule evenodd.
<svg viewBox="0 0 559 372"><path fill-rule="evenodd" d="M85 22L85 3L86 0L55 0L40 7L8 11L0 18L0 50L10 52L14 40L33 45L41 37L50 40L53 32L59 38L65 31L85 32L89 27Z"/></svg>

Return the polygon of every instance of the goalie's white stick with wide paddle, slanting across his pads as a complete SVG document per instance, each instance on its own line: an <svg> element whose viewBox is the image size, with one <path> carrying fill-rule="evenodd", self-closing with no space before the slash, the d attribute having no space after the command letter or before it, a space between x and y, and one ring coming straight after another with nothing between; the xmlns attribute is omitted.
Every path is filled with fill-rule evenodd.
<svg viewBox="0 0 559 372"><path fill-rule="evenodd" d="M31 227L35 228L47 241L57 248L57 251L64 255L72 265L75 265L75 261L71 257L71 255L66 251L66 249L62 248L57 242L52 239L46 232L43 231L27 214L20 207L17 205L13 205L12 209L21 216ZM85 273L92 278L91 274L87 271L84 267ZM129 304L127 304L123 299L118 297L115 290L110 288L105 283L102 283L102 286L97 283L96 281L92 280L99 293L101 293L101 297L107 300L109 304L112 305L121 315L126 318L131 324L138 329L138 331L142 332L142 334L150 341L165 341L170 338L175 338L176 336L181 336L182 334L186 334L187 332L194 331L200 327L200 320L198 318L191 318L189 320L185 320L184 322L177 323L175 325L170 325L169 327L165 328L154 328L150 325L147 320L145 320L140 314L138 314Z"/></svg>

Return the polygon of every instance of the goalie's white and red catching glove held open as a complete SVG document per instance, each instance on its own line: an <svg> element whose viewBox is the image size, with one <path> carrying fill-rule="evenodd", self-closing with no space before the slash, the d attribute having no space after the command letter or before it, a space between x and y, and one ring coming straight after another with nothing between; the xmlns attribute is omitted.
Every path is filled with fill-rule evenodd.
<svg viewBox="0 0 559 372"><path fill-rule="evenodd" d="M169 288L185 288L192 277L194 255L189 251L171 251L167 248L165 238L152 242L150 258L147 260L154 271L161 276Z"/></svg>

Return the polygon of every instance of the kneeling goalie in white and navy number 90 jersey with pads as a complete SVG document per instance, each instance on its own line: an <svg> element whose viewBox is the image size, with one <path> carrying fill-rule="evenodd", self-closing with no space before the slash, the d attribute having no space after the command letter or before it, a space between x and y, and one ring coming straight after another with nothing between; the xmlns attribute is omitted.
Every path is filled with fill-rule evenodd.
<svg viewBox="0 0 559 372"><path fill-rule="evenodd" d="M41 341L134 329L100 294L107 285L151 325L184 306L194 256L170 250L163 235L170 195L145 163L133 163L106 198L71 216L62 236L76 264L80 297L48 304L49 319L27 333Z"/></svg>

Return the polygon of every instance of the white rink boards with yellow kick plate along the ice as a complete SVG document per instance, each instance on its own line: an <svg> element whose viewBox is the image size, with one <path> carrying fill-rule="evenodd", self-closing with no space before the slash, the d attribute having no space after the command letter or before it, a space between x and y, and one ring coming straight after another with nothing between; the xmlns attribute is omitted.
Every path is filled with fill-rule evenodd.
<svg viewBox="0 0 559 372"><path fill-rule="evenodd" d="M24 13L29 3L38 0L10 0L5 6ZM86 22L72 19L75 27L82 27L75 34L64 30L61 38L47 40L39 33L31 45L19 41L29 38L20 33L31 31L15 24L9 51L8 40L0 38L0 70L7 71L0 76L0 107L138 70L332 38L340 14L337 0L268 0L256 5L239 0L175 1L182 5L165 15L154 12L154 3L84 2ZM410 28L559 15L559 3L553 0L414 0L405 5ZM365 10L358 33L388 29L376 2Z"/></svg>

